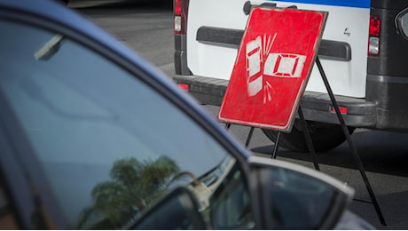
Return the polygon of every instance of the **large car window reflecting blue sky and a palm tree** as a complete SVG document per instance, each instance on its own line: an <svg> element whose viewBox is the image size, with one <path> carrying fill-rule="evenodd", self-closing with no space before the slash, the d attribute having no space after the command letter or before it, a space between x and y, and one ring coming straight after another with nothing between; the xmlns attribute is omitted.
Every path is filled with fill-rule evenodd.
<svg viewBox="0 0 408 231"><path fill-rule="evenodd" d="M0 118L67 228L122 228L179 185L206 209L235 159L191 117L64 36L11 21L0 31Z"/></svg>

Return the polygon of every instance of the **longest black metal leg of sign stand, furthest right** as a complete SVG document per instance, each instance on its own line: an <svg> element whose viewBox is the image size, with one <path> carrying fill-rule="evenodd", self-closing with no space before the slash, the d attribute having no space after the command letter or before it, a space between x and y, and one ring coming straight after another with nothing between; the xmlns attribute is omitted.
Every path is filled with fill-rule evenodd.
<svg viewBox="0 0 408 231"><path fill-rule="evenodd" d="M364 179L365 187L367 188L367 191L370 194L370 197L371 197L371 200L373 202L375 211L377 211L378 218L380 219L381 224L383 224L384 226L387 226L387 224L385 222L385 219L382 216L380 206L377 203L377 199L375 198L375 195L373 193L373 188L371 187L370 181L368 180L368 178L367 178L367 176L365 174L365 169L364 169L363 163L361 162L360 156L358 155L357 148L356 148L356 146L355 146L355 144L353 142L353 139L351 139L349 129L347 128L347 125L344 122L343 117L341 116L339 106L337 105L337 101L334 98L334 95L333 95L332 89L330 87L330 84L327 81L325 71L323 70L322 64L320 63L320 60L318 58L316 59L316 64L318 65L318 71L320 72L320 75L322 76L323 82L325 82L326 89L327 89L327 92L329 93L330 100L332 100L333 107L335 109L336 115L339 118L339 122L341 124L341 129L344 132L344 135L346 136L347 141L349 142L349 147L351 149L352 156L354 157L354 160L357 163L360 174Z"/></svg>

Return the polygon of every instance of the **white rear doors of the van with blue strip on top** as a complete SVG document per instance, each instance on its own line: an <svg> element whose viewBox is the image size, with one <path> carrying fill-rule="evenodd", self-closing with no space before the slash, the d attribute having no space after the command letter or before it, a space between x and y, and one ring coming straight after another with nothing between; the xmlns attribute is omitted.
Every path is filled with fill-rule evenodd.
<svg viewBox="0 0 408 231"><path fill-rule="evenodd" d="M187 63L194 76L228 80L243 33L247 0L190 0L187 24ZM370 0L251 1L251 4L296 5L298 9L329 12L318 52L334 94L364 98ZM283 25L285 26L285 25ZM240 41L240 40L238 40ZM313 68L306 91L325 92Z"/></svg>

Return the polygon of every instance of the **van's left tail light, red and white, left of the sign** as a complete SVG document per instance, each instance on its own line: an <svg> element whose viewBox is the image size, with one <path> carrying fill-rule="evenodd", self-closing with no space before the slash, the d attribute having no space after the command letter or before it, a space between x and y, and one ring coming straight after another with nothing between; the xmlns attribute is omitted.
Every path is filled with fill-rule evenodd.
<svg viewBox="0 0 408 231"><path fill-rule="evenodd" d="M189 0L174 0L174 33L185 35L187 32Z"/></svg>

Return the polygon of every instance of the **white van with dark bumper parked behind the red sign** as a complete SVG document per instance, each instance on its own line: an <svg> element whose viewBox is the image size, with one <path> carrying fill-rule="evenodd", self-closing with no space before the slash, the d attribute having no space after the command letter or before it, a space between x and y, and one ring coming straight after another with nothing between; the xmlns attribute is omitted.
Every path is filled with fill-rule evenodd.
<svg viewBox="0 0 408 231"><path fill-rule="evenodd" d="M262 4L329 12L318 58L350 132L408 131L408 0L175 0L177 84L202 104L220 106L248 12ZM318 152L345 140L317 67L301 106ZM276 140L278 131L263 131ZM308 150L298 122L280 145Z"/></svg>

